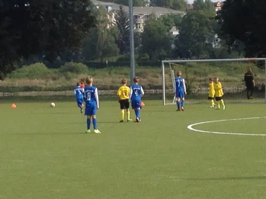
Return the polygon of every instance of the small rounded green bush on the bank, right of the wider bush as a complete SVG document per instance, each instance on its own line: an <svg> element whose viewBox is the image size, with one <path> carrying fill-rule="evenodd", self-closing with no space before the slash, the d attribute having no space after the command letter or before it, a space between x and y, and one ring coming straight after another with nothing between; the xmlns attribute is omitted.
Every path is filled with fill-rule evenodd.
<svg viewBox="0 0 266 199"><path fill-rule="evenodd" d="M74 73L74 74L87 74L88 67L82 63L69 62L65 63L59 69L60 73Z"/></svg>

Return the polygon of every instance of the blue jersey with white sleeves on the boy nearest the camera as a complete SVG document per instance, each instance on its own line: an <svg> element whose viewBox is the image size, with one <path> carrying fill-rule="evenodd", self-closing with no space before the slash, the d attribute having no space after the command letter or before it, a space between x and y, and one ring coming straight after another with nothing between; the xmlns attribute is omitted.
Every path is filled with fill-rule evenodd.
<svg viewBox="0 0 266 199"><path fill-rule="evenodd" d="M93 86L86 86L84 88L84 100L86 106L99 108L98 90Z"/></svg>

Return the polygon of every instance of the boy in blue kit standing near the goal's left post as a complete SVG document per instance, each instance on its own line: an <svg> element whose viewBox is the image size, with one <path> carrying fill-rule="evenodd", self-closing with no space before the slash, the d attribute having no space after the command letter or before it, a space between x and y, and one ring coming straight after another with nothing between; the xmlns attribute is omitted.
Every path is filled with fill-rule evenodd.
<svg viewBox="0 0 266 199"><path fill-rule="evenodd" d="M185 95L187 95L185 80L181 77L181 71L177 72L177 77L175 78L176 82L176 103L177 111L180 111L180 100L181 100L181 110L184 109L185 104Z"/></svg>

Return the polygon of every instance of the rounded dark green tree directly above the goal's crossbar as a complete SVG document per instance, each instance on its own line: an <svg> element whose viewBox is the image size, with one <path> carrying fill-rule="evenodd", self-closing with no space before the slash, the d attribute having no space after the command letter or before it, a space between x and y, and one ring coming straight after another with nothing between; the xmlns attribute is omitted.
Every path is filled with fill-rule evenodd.
<svg viewBox="0 0 266 199"><path fill-rule="evenodd" d="M182 58L208 58L214 39L212 21L205 14L191 11L183 17L176 39L176 51Z"/></svg>

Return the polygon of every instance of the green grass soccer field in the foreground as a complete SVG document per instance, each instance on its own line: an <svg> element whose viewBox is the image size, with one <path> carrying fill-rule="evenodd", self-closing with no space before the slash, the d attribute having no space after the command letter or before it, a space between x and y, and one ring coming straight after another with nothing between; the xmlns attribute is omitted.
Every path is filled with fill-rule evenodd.
<svg viewBox="0 0 266 199"><path fill-rule="evenodd" d="M145 103L141 123L118 123L118 103L101 102L101 134L83 133L74 102L1 103L0 199L266 199L266 136L187 128L263 117L265 104ZM266 118L194 128L266 134Z"/></svg>

